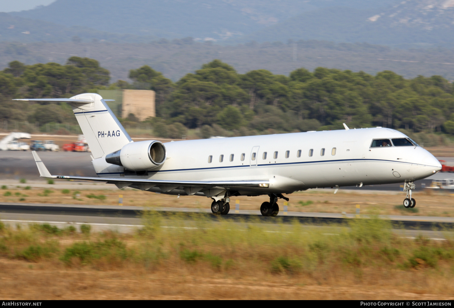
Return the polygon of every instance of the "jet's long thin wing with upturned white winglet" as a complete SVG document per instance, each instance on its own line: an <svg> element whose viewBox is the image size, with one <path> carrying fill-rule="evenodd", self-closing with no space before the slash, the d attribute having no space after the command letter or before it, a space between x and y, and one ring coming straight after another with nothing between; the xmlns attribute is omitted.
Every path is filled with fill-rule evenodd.
<svg viewBox="0 0 454 308"><path fill-rule="evenodd" d="M35 158L36 166L39 170L40 177L67 179L67 180L85 180L115 184L117 187L128 187L129 185L152 185L153 186L183 186L183 187L257 187L264 188L269 186L269 180L263 181L171 181L171 180L153 180L153 179L131 179L131 178L109 178L109 177L73 177L73 176L54 176L47 170L44 163L39 158L36 151L32 151Z"/></svg>

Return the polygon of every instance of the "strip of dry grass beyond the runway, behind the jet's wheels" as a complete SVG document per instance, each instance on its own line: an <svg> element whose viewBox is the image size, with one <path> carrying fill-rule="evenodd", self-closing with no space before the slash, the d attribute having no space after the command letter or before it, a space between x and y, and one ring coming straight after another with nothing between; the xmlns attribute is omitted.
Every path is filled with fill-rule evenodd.
<svg viewBox="0 0 454 308"><path fill-rule="evenodd" d="M62 190L62 189L29 189L22 184L21 188L0 190L0 202L25 203L56 203L56 204L93 204L118 205L118 194L123 195L123 205L140 207L189 207L209 209L211 199L197 196L169 196L143 192L135 189L125 190ZM74 185L77 188L77 185ZM9 196L5 193L10 192ZM67 193L64 193L67 192ZM18 194L18 195L16 195ZM90 196L91 198L87 197ZM102 196L105 196L103 199ZM333 194L332 190L309 190L287 195L290 198L289 212L326 212L326 213L355 213L356 204L360 204L361 213L377 212L383 215L413 215L454 217L454 196L440 193L436 190L416 190L413 193L418 204L415 210L405 210L401 207L405 198L403 192L353 192L339 190ZM98 198L97 198L98 197ZM232 197L230 207L235 208L235 200L240 200L240 210L259 210L262 202L268 201L267 196L260 197ZM279 201L281 206L283 202Z"/></svg>

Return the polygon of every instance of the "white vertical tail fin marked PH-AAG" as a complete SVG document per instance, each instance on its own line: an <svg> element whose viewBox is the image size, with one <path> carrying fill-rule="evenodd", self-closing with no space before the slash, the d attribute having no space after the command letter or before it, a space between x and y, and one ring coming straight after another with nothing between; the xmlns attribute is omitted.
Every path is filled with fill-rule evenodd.
<svg viewBox="0 0 454 308"><path fill-rule="evenodd" d="M118 151L132 142L131 137L99 94L79 94L71 97L67 103L73 107L74 115L94 158Z"/></svg>

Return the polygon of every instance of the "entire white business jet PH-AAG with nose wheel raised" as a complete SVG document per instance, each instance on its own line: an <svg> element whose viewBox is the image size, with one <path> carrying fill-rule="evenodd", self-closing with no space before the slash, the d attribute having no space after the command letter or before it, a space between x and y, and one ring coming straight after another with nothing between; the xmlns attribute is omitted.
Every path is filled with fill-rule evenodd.
<svg viewBox="0 0 454 308"><path fill-rule="evenodd" d="M414 181L438 172L438 160L390 128L187 140L133 142L98 94L69 99L92 152L99 177L54 176L34 151L41 177L89 180L171 195L213 199L213 213L227 214L230 197L268 195L263 216L276 216L283 194L317 187L404 182L405 207L414 207Z"/></svg>

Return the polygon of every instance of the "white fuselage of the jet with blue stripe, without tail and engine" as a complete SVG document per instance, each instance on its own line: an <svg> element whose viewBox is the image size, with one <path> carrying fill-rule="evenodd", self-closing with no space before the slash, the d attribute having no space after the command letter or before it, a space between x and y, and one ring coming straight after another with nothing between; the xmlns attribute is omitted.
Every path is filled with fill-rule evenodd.
<svg viewBox="0 0 454 308"><path fill-rule="evenodd" d="M290 193L316 187L390 184L429 177L441 169L438 160L420 146L371 148L373 139L407 137L389 128L316 131L164 143L167 160L148 176L123 177L123 167L93 161L99 177L154 180L269 180L268 188L241 194ZM119 147L121 148L121 146ZM321 149L325 149L321 156ZM336 154L332 155L332 149ZM313 149L312 157L309 151ZM297 151L301 150L301 157ZM276 159L274 152L278 152ZM286 151L289 157L286 158ZM252 160L252 153L256 159ZM267 152L266 159L263 153ZM241 161L242 153L245 154ZM233 161L230 155L233 154ZM220 162L220 156L223 161ZM212 162L208 157L212 156ZM154 188L156 190L158 188Z"/></svg>

